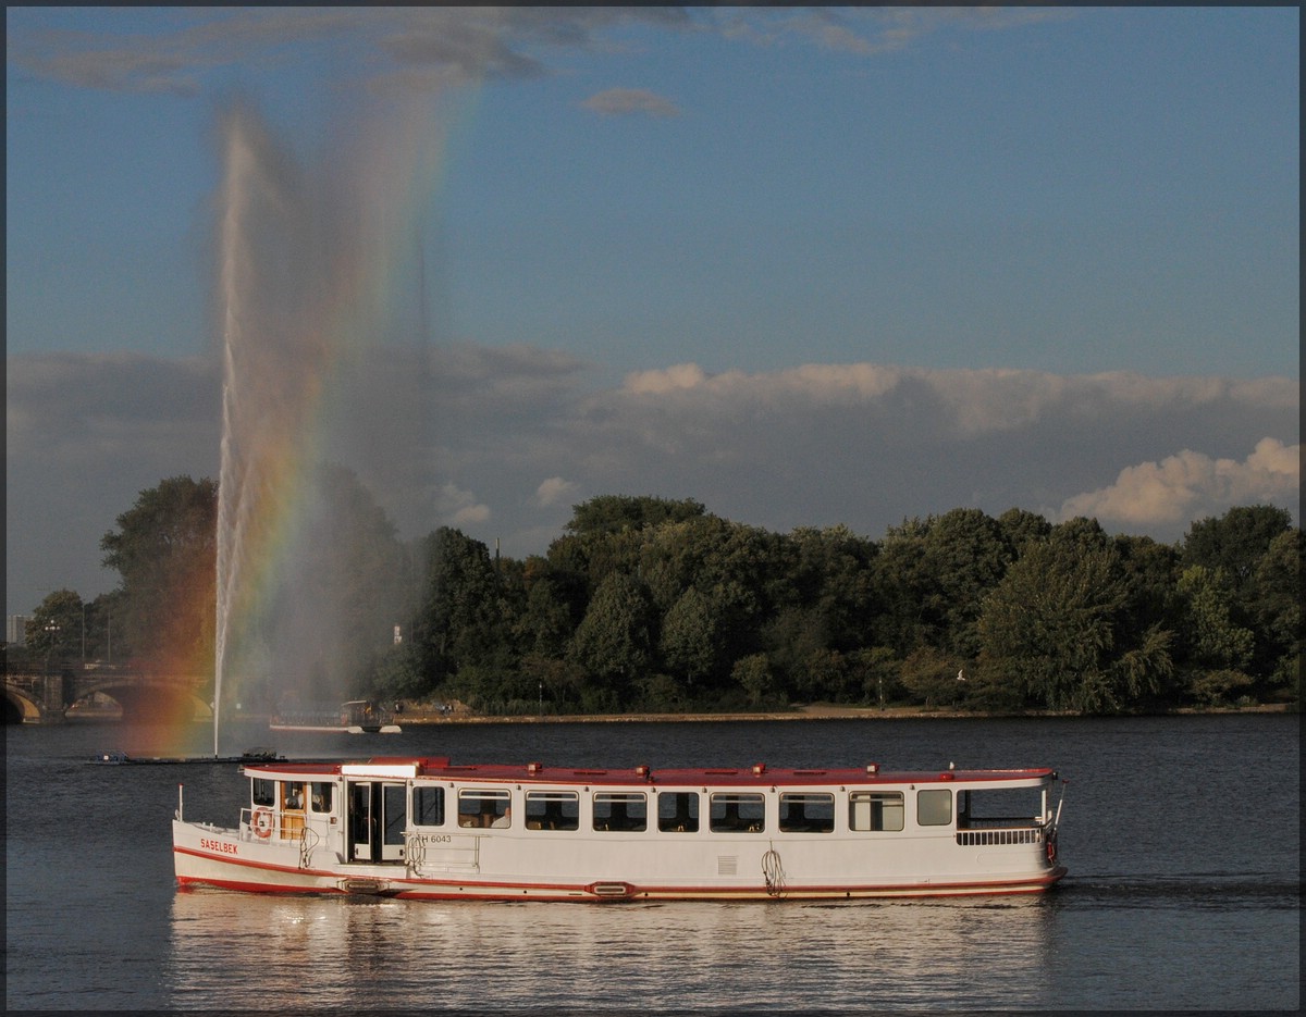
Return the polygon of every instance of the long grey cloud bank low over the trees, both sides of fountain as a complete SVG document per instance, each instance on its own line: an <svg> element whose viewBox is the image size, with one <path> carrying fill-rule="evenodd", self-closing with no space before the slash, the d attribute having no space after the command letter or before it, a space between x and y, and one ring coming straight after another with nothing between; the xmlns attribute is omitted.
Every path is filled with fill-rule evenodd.
<svg viewBox="0 0 1306 1017"><path fill-rule="evenodd" d="M7 367L9 607L57 586L102 593L114 576L99 538L136 495L215 477L218 372L136 355ZM1292 379L690 363L596 389L569 355L445 345L383 346L358 371L341 389L349 426L324 452L405 537L457 526L512 556L547 550L581 492L693 497L776 531L841 522L872 538L963 507L1089 514L1162 540L1235 504L1298 512Z"/></svg>

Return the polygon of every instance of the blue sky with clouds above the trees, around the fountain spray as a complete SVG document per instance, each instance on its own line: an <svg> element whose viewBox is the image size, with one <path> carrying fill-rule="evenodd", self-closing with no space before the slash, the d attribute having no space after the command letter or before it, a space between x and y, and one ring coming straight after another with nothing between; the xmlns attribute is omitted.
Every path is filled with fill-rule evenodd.
<svg viewBox="0 0 1306 1017"><path fill-rule="evenodd" d="M436 372L401 403L438 435L422 491L383 496L406 530L542 552L571 504L623 491L871 537L972 504L1158 539L1229 504L1296 517L1296 8L9 8L7 29L10 611L107 589L98 539L135 492L214 473L235 93L310 168L400 97L438 124L405 223L424 285L390 292ZM913 416L935 403L953 430Z"/></svg>

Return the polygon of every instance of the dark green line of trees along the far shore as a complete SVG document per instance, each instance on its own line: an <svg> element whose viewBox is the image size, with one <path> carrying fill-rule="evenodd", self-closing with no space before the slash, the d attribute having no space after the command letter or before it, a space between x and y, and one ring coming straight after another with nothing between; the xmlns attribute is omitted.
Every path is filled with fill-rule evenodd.
<svg viewBox="0 0 1306 1017"><path fill-rule="evenodd" d="M346 471L324 496L342 510L316 544L337 619L321 641L349 696L503 714L1299 701L1302 535L1268 505L1196 521L1174 544L1023 509L904 520L876 540L603 495L518 560L448 526L401 540ZM180 593L215 586L215 517L212 480L142 491L101 544L118 589L47 597L29 658L85 642L91 659L212 661L213 594ZM295 692L326 695L313 680Z"/></svg>

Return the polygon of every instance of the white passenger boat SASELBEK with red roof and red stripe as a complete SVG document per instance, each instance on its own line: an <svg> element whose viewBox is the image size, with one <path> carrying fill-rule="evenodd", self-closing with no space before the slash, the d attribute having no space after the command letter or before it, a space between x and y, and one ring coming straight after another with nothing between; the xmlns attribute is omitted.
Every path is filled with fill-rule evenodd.
<svg viewBox="0 0 1306 1017"><path fill-rule="evenodd" d="M572 769L448 759L243 766L239 825L172 821L180 888L431 900L1038 893L1050 769ZM1054 795L1058 798L1054 803Z"/></svg>

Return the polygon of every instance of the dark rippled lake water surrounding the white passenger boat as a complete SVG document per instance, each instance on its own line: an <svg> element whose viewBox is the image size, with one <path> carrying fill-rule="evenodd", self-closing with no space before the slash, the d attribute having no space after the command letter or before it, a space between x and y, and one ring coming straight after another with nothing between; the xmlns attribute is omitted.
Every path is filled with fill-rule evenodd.
<svg viewBox="0 0 1306 1017"><path fill-rule="evenodd" d="M1029 898L512 905L195 890L185 815L235 825L232 764L119 725L8 727L8 1009L1297 1009L1299 718L464 725L272 735L287 756L888 769L1054 766L1070 875ZM226 740L226 739L225 739ZM208 747L208 748L206 748ZM175 751L212 752L197 727Z"/></svg>

